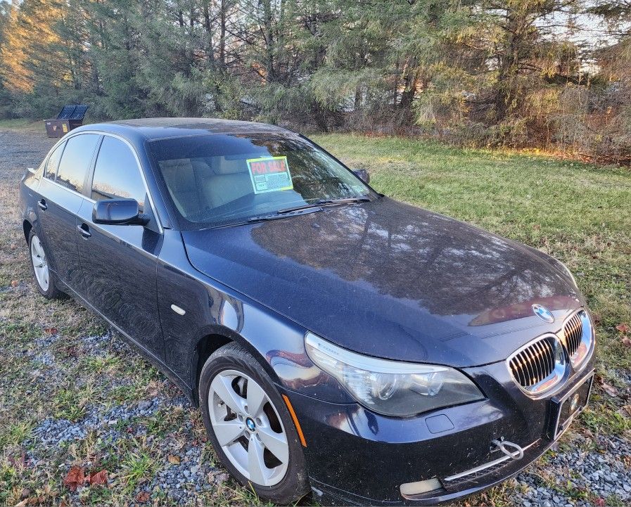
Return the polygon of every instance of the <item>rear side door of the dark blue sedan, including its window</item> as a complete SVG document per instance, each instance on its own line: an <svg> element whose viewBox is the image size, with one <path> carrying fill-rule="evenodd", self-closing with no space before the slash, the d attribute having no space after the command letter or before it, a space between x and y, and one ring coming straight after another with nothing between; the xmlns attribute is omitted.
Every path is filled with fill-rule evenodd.
<svg viewBox="0 0 631 507"><path fill-rule="evenodd" d="M84 281L77 251L76 215L100 137L78 134L61 143L51 153L38 188L36 212L49 265L79 295L84 295Z"/></svg>

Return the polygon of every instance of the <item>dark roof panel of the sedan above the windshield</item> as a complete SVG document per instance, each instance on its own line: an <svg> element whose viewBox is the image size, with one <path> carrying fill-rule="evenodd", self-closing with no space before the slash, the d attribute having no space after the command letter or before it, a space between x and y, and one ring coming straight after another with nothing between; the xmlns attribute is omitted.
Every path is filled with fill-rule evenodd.
<svg viewBox="0 0 631 507"><path fill-rule="evenodd" d="M203 134L286 134L293 132L267 123L222 120L220 118L139 118L88 124L77 131L96 130L119 134L129 141L154 141Z"/></svg>

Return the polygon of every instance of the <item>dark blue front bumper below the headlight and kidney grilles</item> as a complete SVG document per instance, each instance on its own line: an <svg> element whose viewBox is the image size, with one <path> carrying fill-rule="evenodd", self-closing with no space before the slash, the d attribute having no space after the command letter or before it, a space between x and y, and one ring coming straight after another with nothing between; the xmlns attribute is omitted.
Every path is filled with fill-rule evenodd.
<svg viewBox="0 0 631 507"><path fill-rule="evenodd" d="M287 392L307 441L314 494L319 501L344 505L433 505L502 482L535 461L568 428L559 425L554 434L555 402L591 378L592 361L542 399L525 396L503 363L470 368L466 373L487 399L405 419ZM523 457L507 458L492 444L502 439L523 448ZM401 484L430 479L438 479L438 489L400 492Z"/></svg>

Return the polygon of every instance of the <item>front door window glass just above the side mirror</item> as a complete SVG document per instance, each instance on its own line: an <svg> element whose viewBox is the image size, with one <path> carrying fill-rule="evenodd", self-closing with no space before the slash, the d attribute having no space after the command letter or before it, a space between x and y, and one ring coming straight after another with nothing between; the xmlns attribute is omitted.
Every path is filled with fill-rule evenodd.
<svg viewBox="0 0 631 507"><path fill-rule="evenodd" d="M144 212L146 188L140 167L131 148L120 139L103 137L94 166L91 198L135 199L138 201L140 212Z"/></svg>

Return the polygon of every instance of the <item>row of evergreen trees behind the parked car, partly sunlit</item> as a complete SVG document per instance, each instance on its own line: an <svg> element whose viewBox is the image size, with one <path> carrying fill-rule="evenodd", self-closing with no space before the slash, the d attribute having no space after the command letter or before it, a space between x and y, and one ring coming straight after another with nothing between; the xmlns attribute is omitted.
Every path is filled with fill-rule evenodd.
<svg viewBox="0 0 631 507"><path fill-rule="evenodd" d="M218 115L631 162L627 0L0 0L0 116Z"/></svg>

